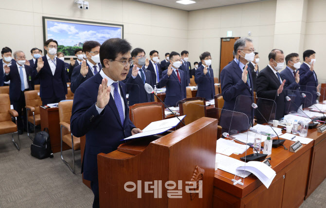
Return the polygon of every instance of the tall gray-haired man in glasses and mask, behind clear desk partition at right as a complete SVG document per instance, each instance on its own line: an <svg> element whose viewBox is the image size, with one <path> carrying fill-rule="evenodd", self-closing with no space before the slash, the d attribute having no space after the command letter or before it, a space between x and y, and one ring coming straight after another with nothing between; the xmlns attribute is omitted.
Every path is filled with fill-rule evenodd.
<svg viewBox="0 0 326 208"><path fill-rule="evenodd" d="M254 51L254 44L250 38L237 39L233 52L235 58L221 71L220 82L224 99L223 109L229 110L221 112L220 125L223 128L223 132L229 132L231 128L235 128L233 130L237 131L246 130L253 123L254 110L251 104L254 102L254 87L251 69L248 69L247 64L254 60ZM238 97L239 95L242 96ZM242 124L235 124L234 120L232 126L230 126L232 121L232 116L231 118L229 116L231 115L230 111L244 113L248 117L248 119L244 119L248 120L248 122L238 118L237 120L242 120Z"/></svg>

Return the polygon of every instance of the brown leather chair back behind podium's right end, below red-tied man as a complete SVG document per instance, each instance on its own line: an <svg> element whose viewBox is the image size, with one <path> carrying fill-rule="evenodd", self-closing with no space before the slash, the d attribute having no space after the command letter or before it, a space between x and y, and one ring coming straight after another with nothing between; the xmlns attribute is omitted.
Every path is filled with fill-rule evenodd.
<svg viewBox="0 0 326 208"><path fill-rule="evenodd" d="M179 102L180 116L184 117L184 124L188 125L201 117L206 116L205 99L200 97L185 98Z"/></svg>

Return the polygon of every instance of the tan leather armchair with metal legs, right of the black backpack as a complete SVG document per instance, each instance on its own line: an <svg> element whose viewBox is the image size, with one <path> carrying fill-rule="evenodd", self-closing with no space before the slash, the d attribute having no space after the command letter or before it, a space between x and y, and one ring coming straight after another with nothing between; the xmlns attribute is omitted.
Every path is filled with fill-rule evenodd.
<svg viewBox="0 0 326 208"><path fill-rule="evenodd" d="M72 173L75 172L75 150L80 150L80 138L74 137L70 131L70 117L72 116L72 103L73 101L60 102L59 118L60 118L60 131L61 131L61 159L69 167ZM64 128L63 128L64 127ZM63 159L62 156L62 141L72 148L73 169L69 163Z"/></svg>

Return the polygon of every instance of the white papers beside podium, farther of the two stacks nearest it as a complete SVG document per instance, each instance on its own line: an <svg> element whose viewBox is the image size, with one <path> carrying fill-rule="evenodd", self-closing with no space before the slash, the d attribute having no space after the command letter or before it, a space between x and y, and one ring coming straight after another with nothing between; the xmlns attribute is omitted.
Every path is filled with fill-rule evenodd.
<svg viewBox="0 0 326 208"><path fill-rule="evenodd" d="M220 138L216 142L216 152L230 156L234 154L242 154L249 148L249 145L238 144L234 141Z"/></svg>

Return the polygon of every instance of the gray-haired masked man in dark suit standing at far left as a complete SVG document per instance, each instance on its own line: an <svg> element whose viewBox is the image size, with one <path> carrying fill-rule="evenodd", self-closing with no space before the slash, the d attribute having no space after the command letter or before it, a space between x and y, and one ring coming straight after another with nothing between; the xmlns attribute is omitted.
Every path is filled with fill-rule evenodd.
<svg viewBox="0 0 326 208"><path fill-rule="evenodd" d="M24 92L32 90L32 68L25 65L26 56L22 51L14 52L15 63L10 67L4 66L4 81L10 81L9 97L14 109L18 112L17 124L18 134L22 134L27 129L27 118L25 109ZM23 114L23 120L21 115ZM23 125L24 122L24 125Z"/></svg>

